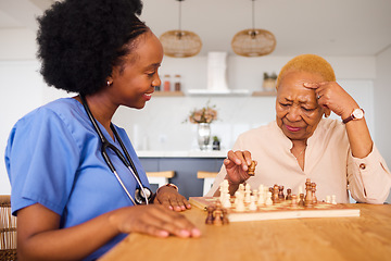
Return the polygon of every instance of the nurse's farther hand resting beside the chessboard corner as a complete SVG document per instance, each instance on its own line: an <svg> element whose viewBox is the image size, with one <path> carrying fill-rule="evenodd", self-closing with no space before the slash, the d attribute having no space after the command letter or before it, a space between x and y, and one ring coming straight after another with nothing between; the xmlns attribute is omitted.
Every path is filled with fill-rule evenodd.
<svg viewBox="0 0 391 261"><path fill-rule="evenodd" d="M163 204L164 207L174 211L191 209L189 201L187 201L184 196L178 194L175 188L168 186L162 186L159 188L153 203Z"/></svg>

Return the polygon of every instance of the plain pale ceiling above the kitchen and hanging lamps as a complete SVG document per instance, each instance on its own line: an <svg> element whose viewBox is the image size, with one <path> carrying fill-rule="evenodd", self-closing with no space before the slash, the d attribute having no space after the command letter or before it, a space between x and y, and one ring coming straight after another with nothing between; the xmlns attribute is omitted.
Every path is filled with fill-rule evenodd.
<svg viewBox="0 0 391 261"><path fill-rule="evenodd" d="M37 29L35 17L52 0L1 0L0 29ZM178 28L176 0L143 0L141 20L155 35ZM251 0L185 0L182 29L197 33L209 51L234 53L234 35L252 26ZM256 0L255 27L270 30L269 55L376 55L391 46L391 0Z"/></svg>

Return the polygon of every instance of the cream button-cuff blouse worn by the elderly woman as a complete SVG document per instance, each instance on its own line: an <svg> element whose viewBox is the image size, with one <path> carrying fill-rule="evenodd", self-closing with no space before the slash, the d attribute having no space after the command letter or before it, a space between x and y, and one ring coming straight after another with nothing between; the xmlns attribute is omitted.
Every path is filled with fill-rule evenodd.
<svg viewBox="0 0 391 261"><path fill-rule="evenodd" d="M232 150L249 150L257 161L255 175L247 183L252 189L262 184L266 187L282 185L285 190L299 189L305 192L305 181L316 183L316 197L336 195L337 202L349 203L349 191L353 199L366 203L383 203L391 187L391 174L379 151L364 159L354 158L345 126L338 120L323 119L307 140L304 171L290 152L291 140L285 136L276 122L241 134ZM223 165L206 196L213 196L226 176Z"/></svg>

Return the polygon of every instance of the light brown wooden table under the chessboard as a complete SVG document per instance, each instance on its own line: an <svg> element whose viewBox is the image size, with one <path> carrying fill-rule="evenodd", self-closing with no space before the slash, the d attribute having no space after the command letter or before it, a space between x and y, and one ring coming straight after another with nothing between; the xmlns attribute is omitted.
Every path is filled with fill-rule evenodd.
<svg viewBox="0 0 391 261"><path fill-rule="evenodd" d="M100 260L391 260L391 206L352 204L360 217L292 219L205 225L206 213L184 212L200 238L131 234Z"/></svg>

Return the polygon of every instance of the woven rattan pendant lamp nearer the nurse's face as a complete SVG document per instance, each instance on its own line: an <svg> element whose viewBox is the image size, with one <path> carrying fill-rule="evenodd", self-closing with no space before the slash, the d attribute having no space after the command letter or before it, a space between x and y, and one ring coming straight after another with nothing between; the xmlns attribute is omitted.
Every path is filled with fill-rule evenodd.
<svg viewBox="0 0 391 261"><path fill-rule="evenodd" d="M179 2L179 28L161 35L164 54L173 58L194 57L201 51L202 41L197 34L181 29L181 2L185 0L176 1Z"/></svg>

